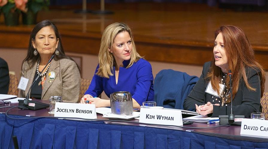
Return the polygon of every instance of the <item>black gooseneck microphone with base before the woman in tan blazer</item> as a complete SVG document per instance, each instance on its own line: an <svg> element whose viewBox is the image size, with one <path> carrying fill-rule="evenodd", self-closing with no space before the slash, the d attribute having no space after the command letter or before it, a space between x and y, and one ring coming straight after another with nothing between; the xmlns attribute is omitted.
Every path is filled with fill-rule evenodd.
<svg viewBox="0 0 268 149"><path fill-rule="evenodd" d="M45 68L52 61L53 58L54 58L54 54L51 56L51 58L49 59L49 61L47 62L46 66L43 68L43 70L40 72L40 74L42 74L42 72L45 70ZM28 90L26 98L24 100L18 100L19 106L24 106L30 110L39 110L39 109L45 109L45 108L49 107L49 104L29 100L31 88L34 85L34 83L37 81L37 79L40 77L40 74L37 75L37 77L34 79L34 82L32 83L32 85L30 86L30 88Z"/></svg>

